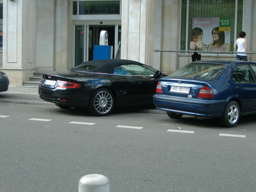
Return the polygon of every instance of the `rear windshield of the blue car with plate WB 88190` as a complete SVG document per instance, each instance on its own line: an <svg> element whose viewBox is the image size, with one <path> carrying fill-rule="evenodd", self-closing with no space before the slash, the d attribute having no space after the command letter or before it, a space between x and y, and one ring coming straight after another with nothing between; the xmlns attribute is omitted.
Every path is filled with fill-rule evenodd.
<svg viewBox="0 0 256 192"><path fill-rule="evenodd" d="M204 78L216 79L226 68L224 64L214 63L189 63L177 71L173 72L172 77Z"/></svg>

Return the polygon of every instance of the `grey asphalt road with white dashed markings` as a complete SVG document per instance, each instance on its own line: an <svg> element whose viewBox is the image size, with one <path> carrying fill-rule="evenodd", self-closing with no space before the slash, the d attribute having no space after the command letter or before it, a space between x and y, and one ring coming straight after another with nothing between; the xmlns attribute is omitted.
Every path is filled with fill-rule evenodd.
<svg viewBox="0 0 256 192"><path fill-rule="evenodd" d="M0 100L8 94L22 95ZM111 192L256 189L254 116L221 128L214 119L125 109L106 117L30 104L0 109L1 192L77 192L92 173L107 176Z"/></svg>

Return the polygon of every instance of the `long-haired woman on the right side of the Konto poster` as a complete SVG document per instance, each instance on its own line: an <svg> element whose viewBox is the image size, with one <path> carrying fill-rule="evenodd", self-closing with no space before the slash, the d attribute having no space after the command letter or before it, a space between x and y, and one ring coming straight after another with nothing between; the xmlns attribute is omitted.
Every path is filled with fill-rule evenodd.
<svg viewBox="0 0 256 192"><path fill-rule="evenodd" d="M211 35L213 37L213 43L208 45L208 51L227 52L230 50L230 45L225 43L225 33L224 31L219 31L219 27L213 28Z"/></svg>

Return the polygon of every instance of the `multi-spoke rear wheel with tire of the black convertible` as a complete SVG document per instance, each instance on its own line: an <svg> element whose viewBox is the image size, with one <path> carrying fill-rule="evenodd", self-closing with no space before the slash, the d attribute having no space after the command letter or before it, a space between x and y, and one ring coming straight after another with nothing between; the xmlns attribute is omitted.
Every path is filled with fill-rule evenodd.
<svg viewBox="0 0 256 192"><path fill-rule="evenodd" d="M89 111L96 116L107 116L114 108L113 93L105 88L99 89L92 94L89 102Z"/></svg>

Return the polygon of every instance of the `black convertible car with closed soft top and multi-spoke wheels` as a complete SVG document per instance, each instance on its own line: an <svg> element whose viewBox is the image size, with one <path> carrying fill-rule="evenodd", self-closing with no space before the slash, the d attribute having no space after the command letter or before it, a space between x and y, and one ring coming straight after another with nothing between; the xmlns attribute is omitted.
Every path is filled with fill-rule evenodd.
<svg viewBox="0 0 256 192"><path fill-rule="evenodd" d="M167 76L147 65L125 59L84 62L70 71L43 74L42 100L58 107L86 108L106 116L114 107L153 105L159 78Z"/></svg>

